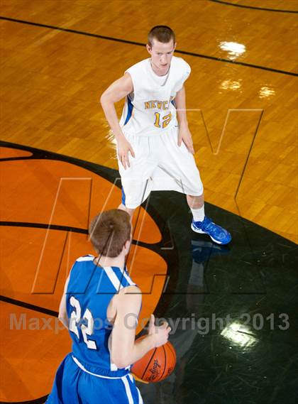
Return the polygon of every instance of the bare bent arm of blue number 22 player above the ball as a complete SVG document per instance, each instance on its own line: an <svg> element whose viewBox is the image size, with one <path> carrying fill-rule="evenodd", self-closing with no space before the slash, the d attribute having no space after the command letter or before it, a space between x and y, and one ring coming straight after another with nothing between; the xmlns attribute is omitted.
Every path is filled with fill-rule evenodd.
<svg viewBox="0 0 298 404"><path fill-rule="evenodd" d="M148 335L140 341L135 341L141 296L140 289L136 286L121 290L117 296L116 319L111 332L111 360L118 368L126 368L142 358L150 349L167 342L170 327L167 323L155 327L153 315Z"/></svg>

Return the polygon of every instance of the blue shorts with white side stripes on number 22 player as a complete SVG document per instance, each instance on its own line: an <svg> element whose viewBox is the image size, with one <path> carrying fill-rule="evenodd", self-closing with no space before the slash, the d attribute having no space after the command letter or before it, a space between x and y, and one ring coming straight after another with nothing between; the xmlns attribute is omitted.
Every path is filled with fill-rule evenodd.
<svg viewBox="0 0 298 404"><path fill-rule="evenodd" d="M68 354L45 404L143 404L143 400L131 373L120 378L95 376Z"/></svg>

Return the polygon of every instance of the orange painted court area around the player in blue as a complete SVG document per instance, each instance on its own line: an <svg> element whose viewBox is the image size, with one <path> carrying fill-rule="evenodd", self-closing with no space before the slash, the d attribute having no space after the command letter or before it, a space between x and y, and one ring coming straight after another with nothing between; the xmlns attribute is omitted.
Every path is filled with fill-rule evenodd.
<svg viewBox="0 0 298 404"><path fill-rule="evenodd" d="M12 150L18 155L17 149ZM84 231L103 207L118 206L121 190L112 186L100 175L62 160L2 162L0 214L3 222L11 224L1 226L0 288L4 299L17 302L1 302L6 365L0 400L33 400L49 393L57 366L71 350L71 339L66 330L42 329L43 322L57 324L57 317L47 310L58 311L75 259L96 255ZM137 333L155 311L167 276L166 261L150 249L150 244L160 241L160 230L143 208L140 217L144 222L138 223L135 234L148 246L133 245L127 262L128 272L143 292ZM48 227L50 220L57 229Z"/></svg>

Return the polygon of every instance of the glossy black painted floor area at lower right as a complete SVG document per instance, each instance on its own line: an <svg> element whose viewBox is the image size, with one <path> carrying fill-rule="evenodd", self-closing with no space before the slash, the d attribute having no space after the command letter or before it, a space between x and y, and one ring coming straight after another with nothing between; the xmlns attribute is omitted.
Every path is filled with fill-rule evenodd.
<svg viewBox="0 0 298 404"><path fill-rule="evenodd" d="M140 386L145 403L297 403L297 246L208 204L233 235L229 246L213 244L189 229L177 193L153 194L150 207L177 250L157 310L175 330L177 366L164 382Z"/></svg>

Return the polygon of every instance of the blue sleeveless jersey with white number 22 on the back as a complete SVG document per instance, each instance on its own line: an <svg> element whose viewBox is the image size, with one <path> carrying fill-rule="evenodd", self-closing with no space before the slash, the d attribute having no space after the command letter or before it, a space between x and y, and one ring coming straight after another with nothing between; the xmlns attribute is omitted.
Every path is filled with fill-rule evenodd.
<svg viewBox="0 0 298 404"><path fill-rule="evenodd" d="M111 363L109 337L112 325L106 317L111 299L122 288L135 285L126 269L96 266L94 256L82 256L70 272L66 292L72 353L84 368L96 368L103 376L123 376L129 366L118 369Z"/></svg>

